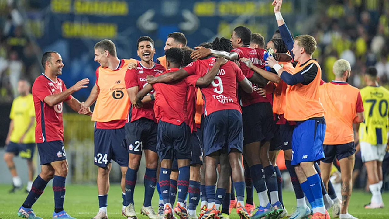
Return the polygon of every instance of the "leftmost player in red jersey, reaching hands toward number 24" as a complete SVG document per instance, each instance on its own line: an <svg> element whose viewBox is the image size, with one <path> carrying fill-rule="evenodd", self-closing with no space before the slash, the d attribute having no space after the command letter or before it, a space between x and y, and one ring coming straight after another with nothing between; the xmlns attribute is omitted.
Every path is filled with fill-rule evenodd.
<svg viewBox="0 0 389 219"><path fill-rule="evenodd" d="M87 87L89 79L82 79L67 89L65 83L58 78L62 74L64 64L61 55L55 51L43 54L42 65L45 71L35 79L32 86L37 121L35 141L38 146L42 170L35 178L25 202L19 208L18 216L41 219L35 216L31 207L43 193L47 183L53 179L55 207L53 218L74 219L63 210L68 162L63 145L62 102L65 101L74 111L80 111L81 102L72 97L72 94ZM86 114L91 116L92 112L89 108L87 110Z"/></svg>

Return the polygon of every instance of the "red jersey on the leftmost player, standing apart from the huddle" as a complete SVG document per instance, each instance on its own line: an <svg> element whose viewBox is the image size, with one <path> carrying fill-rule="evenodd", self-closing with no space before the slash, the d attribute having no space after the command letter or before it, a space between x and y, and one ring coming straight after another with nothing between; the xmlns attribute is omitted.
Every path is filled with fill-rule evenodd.
<svg viewBox="0 0 389 219"><path fill-rule="evenodd" d="M35 79L32 85L32 97L34 99L35 119L35 142L42 143L46 141L63 141L63 103L60 102L51 107L44 102L45 97L52 94L59 94L66 90L65 83L60 78L54 82L45 74ZM69 95L65 101L72 98Z"/></svg>

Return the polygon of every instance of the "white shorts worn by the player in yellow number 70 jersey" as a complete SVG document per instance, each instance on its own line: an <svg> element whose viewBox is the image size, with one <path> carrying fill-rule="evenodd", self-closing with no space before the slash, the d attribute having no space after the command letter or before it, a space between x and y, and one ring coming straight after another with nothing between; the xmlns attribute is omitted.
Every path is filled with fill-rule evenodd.
<svg viewBox="0 0 389 219"><path fill-rule="evenodd" d="M361 146L362 162L368 161L383 161L385 157L386 144L371 145L367 142L359 142Z"/></svg>

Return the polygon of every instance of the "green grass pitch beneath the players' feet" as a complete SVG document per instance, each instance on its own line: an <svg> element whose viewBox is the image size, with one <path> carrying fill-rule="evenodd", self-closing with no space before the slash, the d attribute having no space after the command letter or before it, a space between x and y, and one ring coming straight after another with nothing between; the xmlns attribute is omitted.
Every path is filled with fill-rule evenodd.
<svg viewBox="0 0 389 219"><path fill-rule="evenodd" d="M16 219L19 218L16 213L18 208L26 198L24 191L17 191L14 194L8 194L10 185L0 185L0 219ZM54 210L53 190L51 186L47 186L45 192L33 206L33 210L37 216L44 219L50 219ZM293 207L296 205L293 191L284 191L284 204L291 214ZM135 209L138 212L139 219L146 219L141 215L140 207L143 204L144 188L143 185L137 185L135 189ZM388 219L389 207L383 209L364 209L363 205L370 202L370 193L363 191L354 191L351 196L349 213L359 219ZM389 193L382 195L384 203L389 205ZM258 197L254 194L254 202L258 204ZM158 193L155 191L152 204L157 212ZM109 219L125 219L121 215L122 194L120 186L112 184L108 195L108 217ZM77 219L91 219L98 211L97 186L96 185L67 185L65 196L65 210ZM199 209L199 208L198 208ZM197 210L199 212L199 210ZM330 214L332 210L330 211ZM233 212L231 219L238 219L238 215Z"/></svg>

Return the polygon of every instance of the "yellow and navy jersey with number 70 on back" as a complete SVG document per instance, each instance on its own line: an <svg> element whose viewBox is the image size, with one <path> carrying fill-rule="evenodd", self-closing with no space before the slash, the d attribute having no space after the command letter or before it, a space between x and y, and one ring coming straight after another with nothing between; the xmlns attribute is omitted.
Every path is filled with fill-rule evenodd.
<svg viewBox="0 0 389 219"><path fill-rule="evenodd" d="M388 134L389 90L384 87L367 86L361 89L364 117L359 126L360 141L371 145L386 144Z"/></svg>

